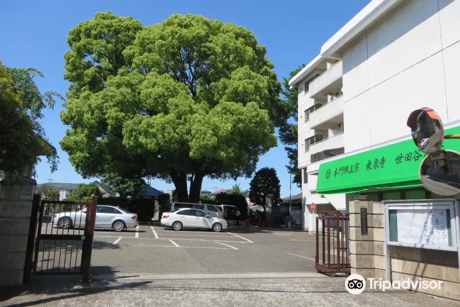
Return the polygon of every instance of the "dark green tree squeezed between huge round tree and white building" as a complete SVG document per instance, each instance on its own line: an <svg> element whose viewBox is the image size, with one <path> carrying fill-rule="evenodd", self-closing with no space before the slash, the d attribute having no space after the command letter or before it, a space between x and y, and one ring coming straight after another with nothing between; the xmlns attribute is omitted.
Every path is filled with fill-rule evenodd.
<svg viewBox="0 0 460 307"><path fill-rule="evenodd" d="M286 150L288 159L289 159L289 164L286 165L286 168L290 174L292 174L292 183L295 183L297 187L302 187L302 172L301 170L297 167L297 158L298 158L298 139L297 139L297 120L298 120L298 93L297 93L297 88L290 89L289 87L289 80L292 79L298 72L300 72L303 68L305 67L305 64L302 64L302 66L298 67L297 69L291 71L289 73L288 78L283 78L283 90L282 94L284 96L284 107L286 111L288 111L288 116L291 121L294 122L288 122L286 120L281 126L280 126L280 141L283 143L283 145L286 145L284 147L284 150Z"/></svg>

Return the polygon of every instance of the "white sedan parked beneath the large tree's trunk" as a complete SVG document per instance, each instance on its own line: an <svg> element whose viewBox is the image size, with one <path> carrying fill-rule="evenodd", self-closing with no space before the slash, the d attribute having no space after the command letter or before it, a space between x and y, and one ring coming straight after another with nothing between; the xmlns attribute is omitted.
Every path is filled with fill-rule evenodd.
<svg viewBox="0 0 460 307"><path fill-rule="evenodd" d="M182 228L212 229L219 232L227 229L227 221L221 217L211 216L199 209L176 209L162 214L161 224L164 227L171 227L174 230Z"/></svg>

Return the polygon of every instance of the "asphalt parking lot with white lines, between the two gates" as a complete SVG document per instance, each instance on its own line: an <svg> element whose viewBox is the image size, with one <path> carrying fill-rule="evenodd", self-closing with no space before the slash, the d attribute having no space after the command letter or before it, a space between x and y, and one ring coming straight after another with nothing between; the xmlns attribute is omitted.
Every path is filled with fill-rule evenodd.
<svg viewBox="0 0 460 307"><path fill-rule="evenodd" d="M304 231L231 227L174 231L141 224L96 230L93 273L313 272L314 236Z"/></svg>

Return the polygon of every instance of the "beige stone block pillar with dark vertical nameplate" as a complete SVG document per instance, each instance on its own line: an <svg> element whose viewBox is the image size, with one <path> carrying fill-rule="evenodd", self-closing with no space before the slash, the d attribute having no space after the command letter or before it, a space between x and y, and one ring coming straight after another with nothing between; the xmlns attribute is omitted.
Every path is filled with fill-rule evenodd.
<svg viewBox="0 0 460 307"><path fill-rule="evenodd" d="M361 208L367 209L367 234L361 234ZM349 210L351 274L385 279L383 203L352 201Z"/></svg>

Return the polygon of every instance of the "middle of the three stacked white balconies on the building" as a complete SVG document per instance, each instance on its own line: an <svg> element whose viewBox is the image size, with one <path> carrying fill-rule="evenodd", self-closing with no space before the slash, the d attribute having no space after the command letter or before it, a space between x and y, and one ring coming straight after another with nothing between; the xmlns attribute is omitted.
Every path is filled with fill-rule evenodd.
<svg viewBox="0 0 460 307"><path fill-rule="evenodd" d="M311 112L310 129L336 128L343 122L343 105L343 96L340 96Z"/></svg>

